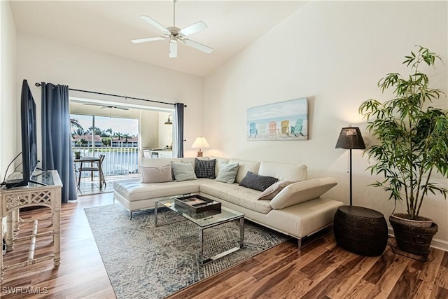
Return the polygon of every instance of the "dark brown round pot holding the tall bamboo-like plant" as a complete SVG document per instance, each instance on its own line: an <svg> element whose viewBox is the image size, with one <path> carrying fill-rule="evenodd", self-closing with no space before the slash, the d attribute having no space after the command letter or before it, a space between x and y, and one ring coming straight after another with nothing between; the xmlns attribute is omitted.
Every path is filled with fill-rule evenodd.
<svg viewBox="0 0 448 299"><path fill-rule="evenodd" d="M429 246L438 230L436 223L431 221L430 225L423 224L420 221L401 218L399 214L391 215L389 222L399 249L419 256L428 256Z"/></svg>

